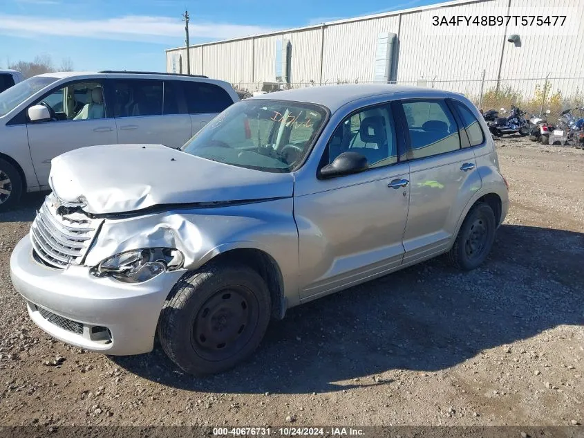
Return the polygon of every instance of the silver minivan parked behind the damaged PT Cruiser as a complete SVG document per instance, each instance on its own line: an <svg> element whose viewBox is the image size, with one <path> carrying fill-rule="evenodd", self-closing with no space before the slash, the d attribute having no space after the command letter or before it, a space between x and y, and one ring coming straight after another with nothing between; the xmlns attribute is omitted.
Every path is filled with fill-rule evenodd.
<svg viewBox="0 0 584 438"><path fill-rule="evenodd" d="M205 76L46 73L0 93L0 211L48 190L50 161L78 147L161 143L179 148L238 101Z"/></svg>

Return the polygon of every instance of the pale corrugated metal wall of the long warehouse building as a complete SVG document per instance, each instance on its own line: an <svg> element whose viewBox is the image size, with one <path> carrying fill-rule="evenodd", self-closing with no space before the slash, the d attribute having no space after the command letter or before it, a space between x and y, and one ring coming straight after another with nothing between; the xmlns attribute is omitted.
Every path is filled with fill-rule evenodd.
<svg viewBox="0 0 584 438"><path fill-rule="evenodd" d="M488 8L535 8L541 0L469 0L446 3L440 8L421 8L390 12L366 19L348 19L338 22L299 28L283 33L256 35L228 42L204 44L191 48L191 72L243 84L244 88L258 82L274 82L276 40L289 39L292 45L290 82L294 86L341 82L368 82L374 78L375 44L382 32L398 34L397 82L426 84L451 89L467 95L478 95L484 86L499 87L497 82L512 84L527 95L534 93L532 81L526 77L584 76L584 26L575 36L554 37L530 35L523 28L519 33L521 47L506 41L503 35L431 35L428 26L432 15L487 15ZM545 6L577 8L578 20L584 22L584 0L546 0ZM507 35L513 28L507 30ZM323 38L324 37L324 38ZM185 49L167 51L167 69L171 56ZM201 53L204 53L201 60ZM322 60L321 60L322 53ZM322 63L321 63L322 61ZM201 64L203 64L201 66ZM321 67L322 66L322 67ZM322 72L321 72L322 68ZM186 72L183 66L183 73ZM484 72L484 73L483 73ZM505 82L514 79L514 82ZM583 88L583 81L563 83L554 87L565 92ZM250 87L252 88L252 87Z"/></svg>

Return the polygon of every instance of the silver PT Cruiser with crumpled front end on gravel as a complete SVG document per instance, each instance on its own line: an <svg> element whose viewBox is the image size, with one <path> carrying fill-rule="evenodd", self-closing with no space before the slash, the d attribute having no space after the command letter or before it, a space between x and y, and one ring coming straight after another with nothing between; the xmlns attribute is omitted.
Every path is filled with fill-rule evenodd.
<svg viewBox="0 0 584 438"><path fill-rule="evenodd" d="M487 257L508 208L489 129L460 94L323 86L237 102L182 149L53 159L10 259L30 318L94 352L221 372L286 309L442 253Z"/></svg>

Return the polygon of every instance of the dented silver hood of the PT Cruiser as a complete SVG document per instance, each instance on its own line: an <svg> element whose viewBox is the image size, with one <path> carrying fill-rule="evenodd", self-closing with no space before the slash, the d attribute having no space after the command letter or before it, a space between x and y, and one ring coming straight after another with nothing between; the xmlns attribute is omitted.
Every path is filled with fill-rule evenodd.
<svg viewBox="0 0 584 438"><path fill-rule="evenodd" d="M104 145L53 158L50 186L95 214L180 203L291 197L294 177L206 160L163 145Z"/></svg>

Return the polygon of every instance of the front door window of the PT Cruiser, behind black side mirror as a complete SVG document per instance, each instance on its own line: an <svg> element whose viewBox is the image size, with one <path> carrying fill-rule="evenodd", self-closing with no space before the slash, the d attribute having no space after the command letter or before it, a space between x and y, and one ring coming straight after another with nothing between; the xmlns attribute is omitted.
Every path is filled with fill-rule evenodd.
<svg viewBox="0 0 584 438"><path fill-rule="evenodd" d="M363 109L341 122L328 142L325 161L332 163L343 152L366 156L370 168L397 163L397 142L389 105Z"/></svg>

